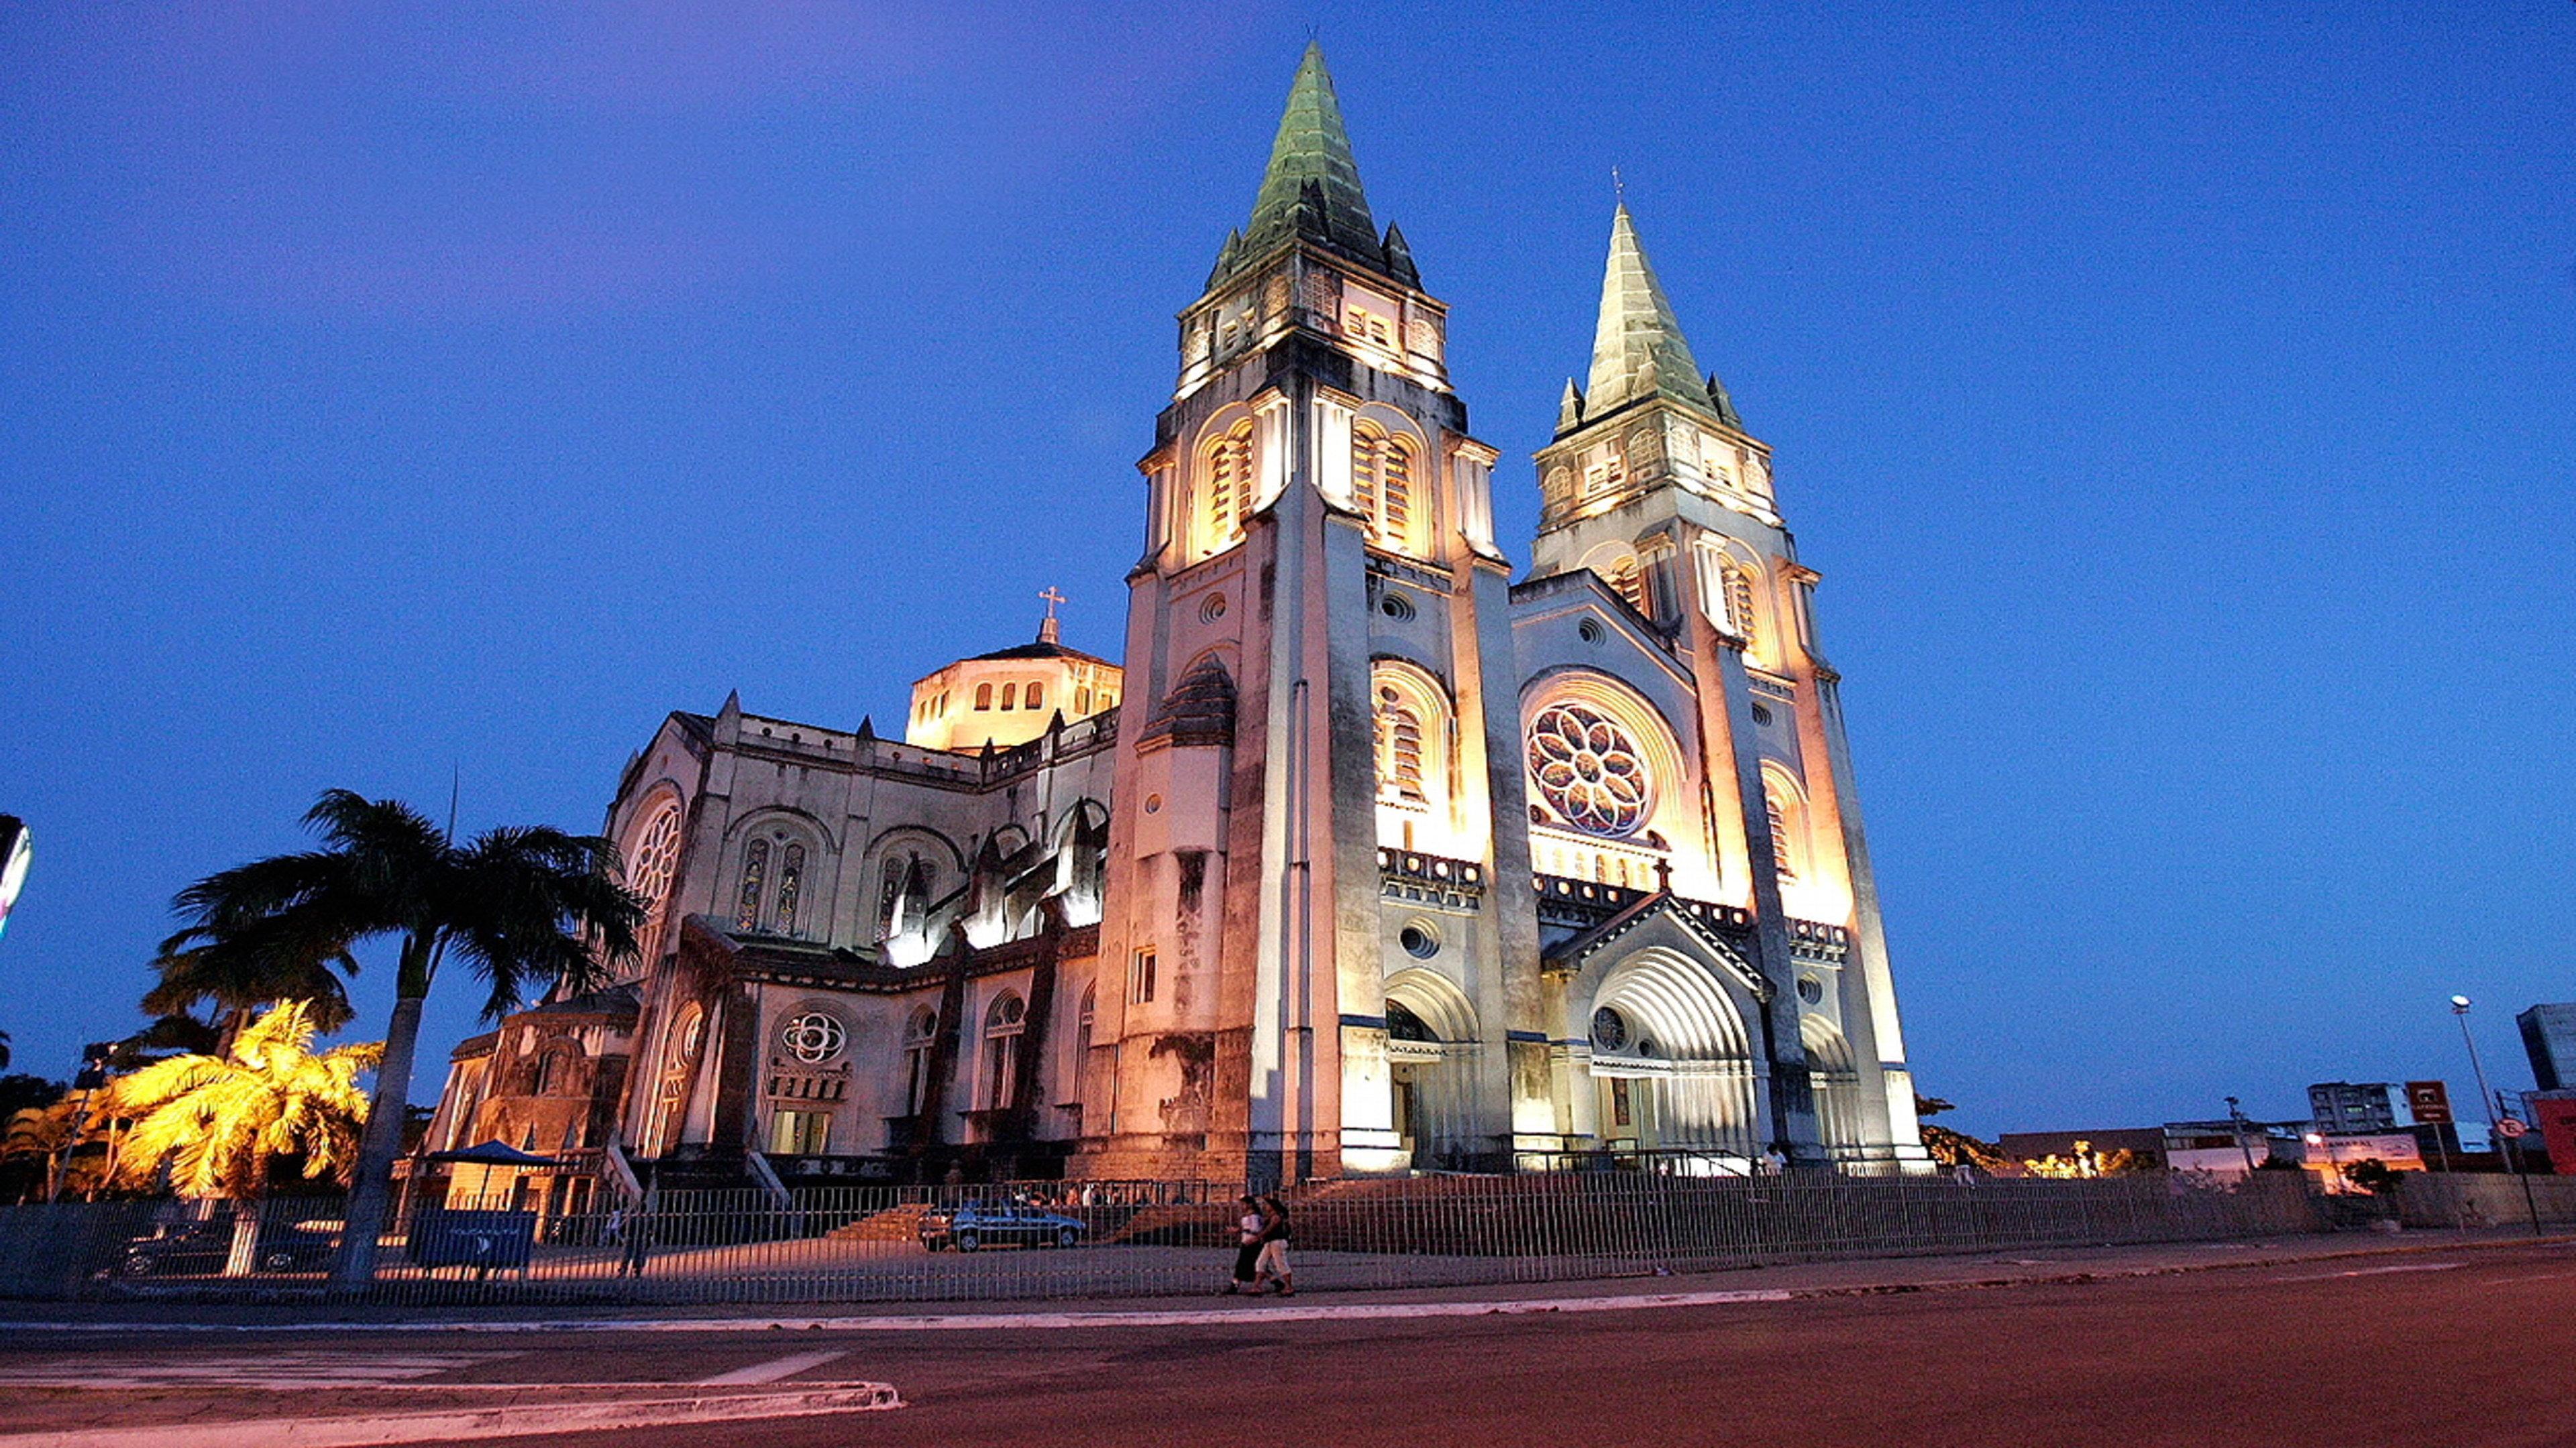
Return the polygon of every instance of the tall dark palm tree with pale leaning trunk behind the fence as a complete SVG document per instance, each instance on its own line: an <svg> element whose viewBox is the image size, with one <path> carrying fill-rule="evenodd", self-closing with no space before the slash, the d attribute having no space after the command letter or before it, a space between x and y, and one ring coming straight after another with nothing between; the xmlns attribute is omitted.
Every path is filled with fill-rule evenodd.
<svg viewBox="0 0 2576 1448"><path fill-rule="evenodd" d="M420 1007L453 951L489 987L484 1018L518 1007L528 987L577 995L636 956L644 904L618 884L618 850L549 827L487 830L459 845L397 799L332 788L304 814L322 850L276 855L206 876L175 910L204 940L289 940L301 958L335 958L394 935L394 1018L358 1147L348 1234L335 1286L376 1275L376 1237L392 1198L410 1105Z"/></svg>

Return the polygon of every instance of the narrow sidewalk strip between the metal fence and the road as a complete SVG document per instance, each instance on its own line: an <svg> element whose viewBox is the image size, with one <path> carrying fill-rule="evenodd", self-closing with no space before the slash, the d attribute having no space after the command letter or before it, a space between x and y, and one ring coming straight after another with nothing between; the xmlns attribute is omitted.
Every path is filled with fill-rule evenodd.
<svg viewBox="0 0 2576 1448"><path fill-rule="evenodd" d="M1623 1311L1656 1306L1713 1306L1731 1301L1798 1301L1821 1296L1981 1291L2040 1283L2081 1283L2169 1273L2213 1273L2285 1262L2388 1260L2409 1255L2476 1252L2483 1247L2576 1247L2576 1234L2532 1237L2527 1229L2321 1234L2251 1242L2166 1242L2146 1247L2066 1247L1981 1252L1953 1257L1878 1257L1798 1262L1726 1273L1595 1278L1558 1283L1484 1283L1455 1288L1309 1288L1296 1301L1278 1299L1097 1299L1097 1301L961 1301L938 1309L814 1306L708 1306L708 1309L399 1309L399 1306L204 1306L204 1304L0 1304L0 1327L33 1332L943 1332L943 1329L1064 1329L1064 1327L1175 1327L1229 1319L1298 1322L1334 1317L1471 1317L1486 1311ZM2383 1268L2385 1270L2385 1268ZM1208 1281L1221 1265L1211 1255Z"/></svg>

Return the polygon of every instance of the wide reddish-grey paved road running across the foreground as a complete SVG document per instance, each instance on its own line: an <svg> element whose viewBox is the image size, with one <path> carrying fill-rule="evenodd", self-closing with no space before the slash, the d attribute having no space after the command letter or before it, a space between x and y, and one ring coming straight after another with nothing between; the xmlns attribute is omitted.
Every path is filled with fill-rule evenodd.
<svg viewBox="0 0 2576 1448"><path fill-rule="evenodd" d="M1298 1306L1309 1301L1324 1299ZM381 1342L8 1335L0 1381L18 1384L21 1430L175 1427L301 1402L278 1378L335 1384L332 1412L412 1409L469 1381L592 1384L513 1396L574 1402L600 1394L600 1381L729 1378L765 1386L721 1391L781 1391L868 1378L909 1404L513 1440L567 1448L1203 1448L1244 1438L1329 1448L2576 1448L2571 1355L2576 1247L2543 1244L1535 1317ZM368 1373L381 1386L350 1381Z"/></svg>

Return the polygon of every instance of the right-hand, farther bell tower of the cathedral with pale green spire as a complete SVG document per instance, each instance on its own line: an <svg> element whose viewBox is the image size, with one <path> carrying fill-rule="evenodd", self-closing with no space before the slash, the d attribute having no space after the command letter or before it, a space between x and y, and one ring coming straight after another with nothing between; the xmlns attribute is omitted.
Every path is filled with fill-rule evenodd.
<svg viewBox="0 0 2576 1448"><path fill-rule="evenodd" d="M1538 484L1533 577L1597 572L1690 660L1718 904L1752 912L1772 987L1775 1144L1847 1170L1922 1165L1819 575L1780 518L1770 446L1692 358L1625 204L1592 371L1566 381Z"/></svg>

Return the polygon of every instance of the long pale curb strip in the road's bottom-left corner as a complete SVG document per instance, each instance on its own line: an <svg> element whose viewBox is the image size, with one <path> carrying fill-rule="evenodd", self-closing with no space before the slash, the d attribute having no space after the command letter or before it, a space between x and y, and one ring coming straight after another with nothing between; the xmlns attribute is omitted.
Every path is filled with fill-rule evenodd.
<svg viewBox="0 0 2576 1448"><path fill-rule="evenodd" d="M85 1427L72 1433L5 1433L0 1448L374 1448L379 1443L451 1443L523 1433L600 1433L611 1427L680 1427L755 1422L904 1407L889 1384L845 1384L819 1391L714 1394L634 1402L546 1402L366 1417L263 1417L247 1422L175 1422L157 1427Z"/></svg>

